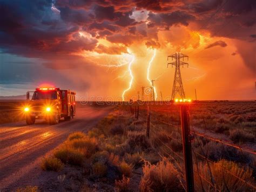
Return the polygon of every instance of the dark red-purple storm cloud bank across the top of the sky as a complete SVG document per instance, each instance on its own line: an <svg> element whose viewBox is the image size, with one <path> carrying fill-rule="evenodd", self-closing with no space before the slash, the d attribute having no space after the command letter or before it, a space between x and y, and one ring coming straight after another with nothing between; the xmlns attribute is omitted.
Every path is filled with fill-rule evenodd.
<svg viewBox="0 0 256 192"><path fill-rule="evenodd" d="M252 34L250 37L255 38L252 26L256 20L252 18L256 1L252 0L186 3L179 0L56 0L53 3L60 12L52 11L52 0L1 1L0 11L4 17L0 18L0 48L3 52L54 58L84 50L94 51L100 38L126 46L144 41L146 46L158 47L159 30L171 30L173 25L188 26L191 22L199 28L220 8L213 17L214 22L205 25L204 30L217 37L242 39ZM145 12L149 17L137 22L134 11L137 11L137 19L142 17L140 13L147 18ZM88 35L79 37L79 31ZM225 47L226 44L218 41L206 48L213 46ZM106 47L101 48L107 51Z"/></svg>

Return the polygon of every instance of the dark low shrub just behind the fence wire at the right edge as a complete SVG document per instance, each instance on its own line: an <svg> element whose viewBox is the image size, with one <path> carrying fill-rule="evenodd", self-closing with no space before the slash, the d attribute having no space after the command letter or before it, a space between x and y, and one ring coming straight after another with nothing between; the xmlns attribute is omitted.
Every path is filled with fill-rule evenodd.
<svg viewBox="0 0 256 192"><path fill-rule="evenodd" d="M254 141L254 134L248 133L241 129L235 129L230 131L230 139L234 143L246 143Z"/></svg>

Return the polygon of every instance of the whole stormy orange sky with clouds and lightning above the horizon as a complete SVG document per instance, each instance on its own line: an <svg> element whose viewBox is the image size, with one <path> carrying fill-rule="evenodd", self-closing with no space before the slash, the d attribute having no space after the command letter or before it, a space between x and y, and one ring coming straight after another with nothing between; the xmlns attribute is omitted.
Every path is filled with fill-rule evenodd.
<svg viewBox="0 0 256 192"><path fill-rule="evenodd" d="M156 79L157 99L169 98L167 55L181 52L186 97L197 89L201 100L256 98L255 1L75 2L37 0L28 5L35 18L18 1L3 2L13 14L0 26L0 95L48 82L78 98L127 101Z"/></svg>

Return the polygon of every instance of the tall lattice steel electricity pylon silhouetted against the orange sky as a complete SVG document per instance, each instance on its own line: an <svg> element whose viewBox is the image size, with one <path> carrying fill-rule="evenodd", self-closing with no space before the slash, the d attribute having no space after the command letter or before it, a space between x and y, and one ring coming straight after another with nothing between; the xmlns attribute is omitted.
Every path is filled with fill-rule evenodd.
<svg viewBox="0 0 256 192"><path fill-rule="evenodd" d="M167 56L167 61L169 60L169 58L172 58L172 60L174 59L175 61L171 63L167 63L167 67L169 65L172 65L172 67L173 66L176 67L175 74L174 74L173 87L172 87L172 100L177 94L179 94L180 97L184 99L185 93L184 93L183 84L181 80L180 65L182 65L182 67L184 65L187 65L188 67L188 63L184 62L184 58L187 58L188 60L188 56L182 53L174 53L172 55ZM183 59L183 61L181 61L181 59Z"/></svg>

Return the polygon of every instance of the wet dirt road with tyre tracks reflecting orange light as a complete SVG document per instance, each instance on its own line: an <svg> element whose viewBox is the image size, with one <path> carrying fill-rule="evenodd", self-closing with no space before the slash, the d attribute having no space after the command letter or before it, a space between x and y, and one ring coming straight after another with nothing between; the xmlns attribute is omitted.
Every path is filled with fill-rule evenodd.
<svg viewBox="0 0 256 192"><path fill-rule="evenodd" d="M23 186L38 186L44 179L40 163L74 131L88 131L107 115L112 107L77 109L70 121L48 125L38 120L35 125L24 122L0 124L0 191Z"/></svg>

